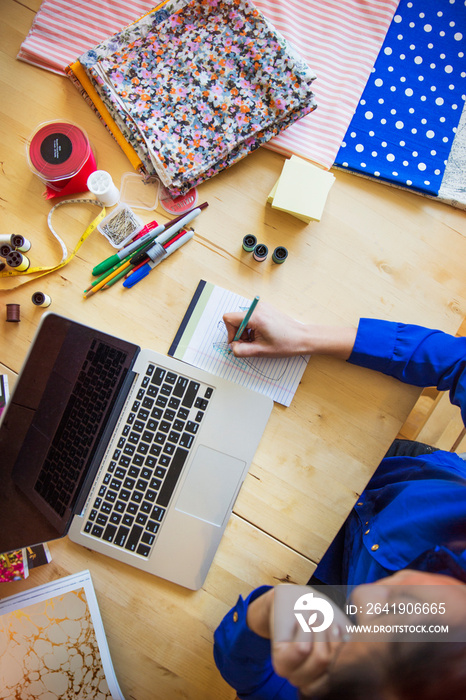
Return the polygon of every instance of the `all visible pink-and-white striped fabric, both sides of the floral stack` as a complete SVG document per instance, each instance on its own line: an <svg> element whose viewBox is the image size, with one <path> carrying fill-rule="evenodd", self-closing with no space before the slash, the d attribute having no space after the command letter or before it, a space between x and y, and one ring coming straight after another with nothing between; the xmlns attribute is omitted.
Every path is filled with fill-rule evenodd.
<svg viewBox="0 0 466 700"><path fill-rule="evenodd" d="M267 147L335 160L399 0L254 0L315 71L317 109ZM150 0L43 0L18 58L55 73L145 14Z"/></svg>

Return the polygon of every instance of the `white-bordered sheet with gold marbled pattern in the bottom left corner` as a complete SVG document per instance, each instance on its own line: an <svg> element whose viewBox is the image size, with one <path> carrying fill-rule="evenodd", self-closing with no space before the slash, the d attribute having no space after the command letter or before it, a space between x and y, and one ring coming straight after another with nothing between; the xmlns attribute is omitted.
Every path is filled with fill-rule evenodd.
<svg viewBox="0 0 466 700"><path fill-rule="evenodd" d="M125 700L89 571L0 601L0 698Z"/></svg>

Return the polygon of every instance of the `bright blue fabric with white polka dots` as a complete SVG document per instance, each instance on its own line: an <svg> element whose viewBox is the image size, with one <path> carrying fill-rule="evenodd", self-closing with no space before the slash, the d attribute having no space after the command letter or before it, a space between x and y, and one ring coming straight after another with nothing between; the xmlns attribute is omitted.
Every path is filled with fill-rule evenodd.
<svg viewBox="0 0 466 700"><path fill-rule="evenodd" d="M465 52L465 0L401 0L335 164L437 195L466 99Z"/></svg>

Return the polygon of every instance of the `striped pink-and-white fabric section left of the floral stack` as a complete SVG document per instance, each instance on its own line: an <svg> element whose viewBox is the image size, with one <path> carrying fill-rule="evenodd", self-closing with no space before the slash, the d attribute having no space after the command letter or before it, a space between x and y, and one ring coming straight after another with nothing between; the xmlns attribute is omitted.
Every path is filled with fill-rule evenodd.
<svg viewBox="0 0 466 700"><path fill-rule="evenodd" d="M142 17L156 0L42 0L17 58L53 73Z"/></svg>

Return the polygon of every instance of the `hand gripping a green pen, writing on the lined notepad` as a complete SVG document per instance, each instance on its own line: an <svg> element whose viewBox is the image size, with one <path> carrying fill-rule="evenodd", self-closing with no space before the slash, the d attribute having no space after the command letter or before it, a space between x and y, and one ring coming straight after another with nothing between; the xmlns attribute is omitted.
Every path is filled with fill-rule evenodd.
<svg viewBox="0 0 466 700"><path fill-rule="evenodd" d="M236 357L290 357L308 352L308 326L266 302L259 302L242 337L233 342L244 316L245 312L223 316L228 342Z"/></svg>

